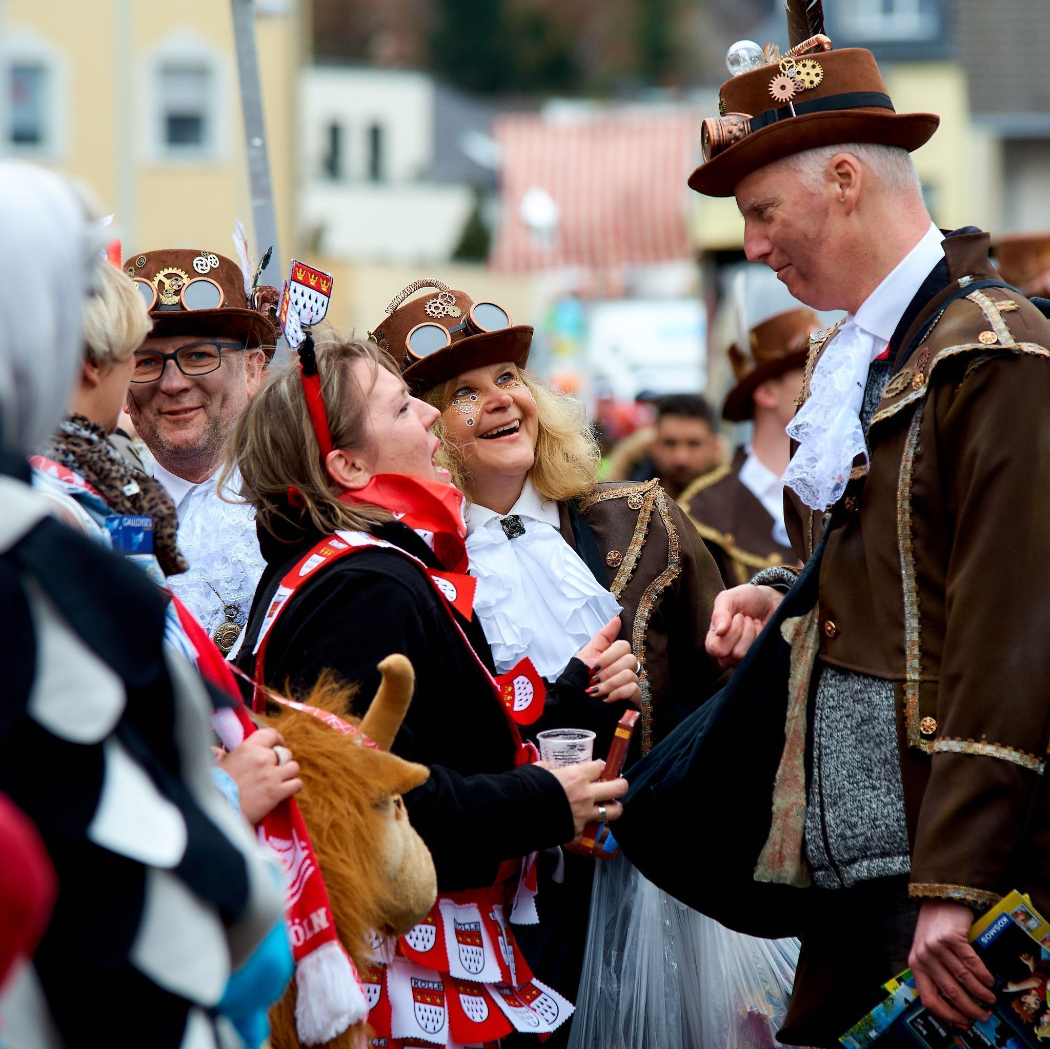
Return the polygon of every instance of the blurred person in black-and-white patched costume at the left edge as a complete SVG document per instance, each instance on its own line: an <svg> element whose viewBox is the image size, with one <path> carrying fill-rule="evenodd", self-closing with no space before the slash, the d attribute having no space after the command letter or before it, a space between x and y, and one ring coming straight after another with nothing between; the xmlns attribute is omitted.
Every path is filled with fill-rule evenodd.
<svg viewBox="0 0 1050 1049"><path fill-rule="evenodd" d="M231 968L280 915L279 872L212 783L211 702L165 643L164 594L28 484L25 456L83 368L97 232L58 175L0 164L0 239L19 260L0 287L0 793L59 881L0 1026L12 1046L81 1045L114 1024L151 1045L215 1044Z"/></svg>

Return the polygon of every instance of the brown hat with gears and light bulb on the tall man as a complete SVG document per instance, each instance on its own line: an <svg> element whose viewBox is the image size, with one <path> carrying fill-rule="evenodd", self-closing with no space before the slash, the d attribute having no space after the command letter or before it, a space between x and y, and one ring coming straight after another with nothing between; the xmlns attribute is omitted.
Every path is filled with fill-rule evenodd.
<svg viewBox="0 0 1050 1049"><path fill-rule="evenodd" d="M870 143L918 149L937 130L934 113L898 113L870 51L832 48L820 0L788 0L791 50L741 41L727 61L748 69L722 84L717 118L701 129L704 161L689 185L732 196L746 175L818 146ZM804 38L804 39L803 39ZM751 48L741 63L741 44ZM764 63L764 64L762 64Z"/></svg>

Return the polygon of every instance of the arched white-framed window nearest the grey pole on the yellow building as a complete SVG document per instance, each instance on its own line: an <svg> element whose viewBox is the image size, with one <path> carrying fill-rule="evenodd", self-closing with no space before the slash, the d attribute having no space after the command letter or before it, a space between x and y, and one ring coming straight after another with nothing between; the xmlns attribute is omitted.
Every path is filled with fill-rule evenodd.
<svg viewBox="0 0 1050 1049"><path fill-rule="evenodd" d="M178 30L143 58L143 145L155 164L202 164L229 148L231 71L213 44Z"/></svg>

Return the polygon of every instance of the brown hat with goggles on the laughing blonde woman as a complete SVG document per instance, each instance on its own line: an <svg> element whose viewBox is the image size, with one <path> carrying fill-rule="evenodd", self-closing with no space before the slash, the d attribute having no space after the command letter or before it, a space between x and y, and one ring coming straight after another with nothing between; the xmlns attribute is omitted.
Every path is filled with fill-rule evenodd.
<svg viewBox="0 0 1050 1049"><path fill-rule="evenodd" d="M386 314L369 337L394 358L417 395L483 364L508 360L524 368L532 347L530 324L516 324L498 302L476 302L440 280L413 281Z"/></svg>

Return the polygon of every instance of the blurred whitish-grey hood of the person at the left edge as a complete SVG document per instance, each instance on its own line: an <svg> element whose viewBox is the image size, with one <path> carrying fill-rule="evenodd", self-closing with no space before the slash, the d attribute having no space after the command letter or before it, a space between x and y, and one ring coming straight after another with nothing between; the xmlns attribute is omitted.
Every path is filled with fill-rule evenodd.
<svg viewBox="0 0 1050 1049"><path fill-rule="evenodd" d="M81 313L100 238L52 171L0 162L0 446L35 452L58 425L83 354Z"/></svg>

